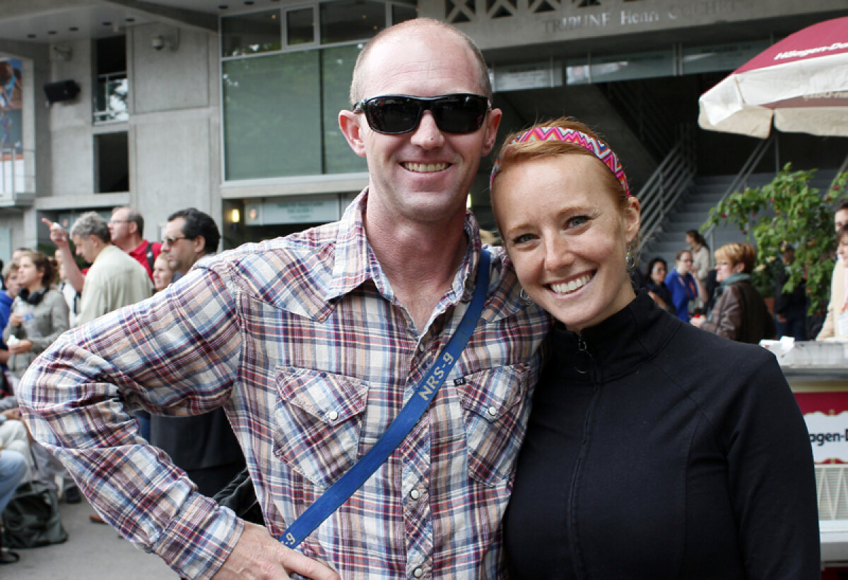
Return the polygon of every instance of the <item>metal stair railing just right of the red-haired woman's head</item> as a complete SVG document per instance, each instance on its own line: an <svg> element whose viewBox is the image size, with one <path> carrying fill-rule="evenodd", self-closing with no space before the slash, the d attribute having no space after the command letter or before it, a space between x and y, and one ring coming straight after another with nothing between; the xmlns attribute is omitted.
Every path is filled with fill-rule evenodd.
<svg viewBox="0 0 848 580"><path fill-rule="evenodd" d="M641 243L650 240L678 198L695 181L695 128L681 127L677 144L639 190L642 207ZM641 247L639 248L641 250Z"/></svg>

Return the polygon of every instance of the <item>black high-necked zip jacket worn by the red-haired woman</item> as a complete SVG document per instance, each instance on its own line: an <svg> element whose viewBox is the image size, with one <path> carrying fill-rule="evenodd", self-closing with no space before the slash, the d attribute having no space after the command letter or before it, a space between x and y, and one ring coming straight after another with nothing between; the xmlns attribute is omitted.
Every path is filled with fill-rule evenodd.
<svg viewBox="0 0 848 580"><path fill-rule="evenodd" d="M505 516L512 577L821 577L812 451L770 352L644 293L551 343Z"/></svg>

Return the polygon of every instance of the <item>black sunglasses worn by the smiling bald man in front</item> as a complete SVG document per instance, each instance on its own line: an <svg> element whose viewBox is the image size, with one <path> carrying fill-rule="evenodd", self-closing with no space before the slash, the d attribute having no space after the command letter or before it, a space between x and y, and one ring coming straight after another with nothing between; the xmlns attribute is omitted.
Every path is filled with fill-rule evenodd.
<svg viewBox="0 0 848 580"><path fill-rule="evenodd" d="M445 133L473 133L483 126L490 108L488 98L470 93L440 97L382 95L357 102L354 112L365 113L371 129L386 135L416 130L424 111L432 113L436 126Z"/></svg>

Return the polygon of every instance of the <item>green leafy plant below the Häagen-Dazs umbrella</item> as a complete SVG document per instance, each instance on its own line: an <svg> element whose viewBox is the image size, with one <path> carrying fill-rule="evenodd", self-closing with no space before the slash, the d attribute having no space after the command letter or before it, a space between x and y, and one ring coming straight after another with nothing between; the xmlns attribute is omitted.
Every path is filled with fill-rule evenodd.
<svg viewBox="0 0 848 580"><path fill-rule="evenodd" d="M757 249L752 278L763 296L773 294L781 246L795 246L784 291L806 279L810 314L823 313L828 305L836 247L834 207L848 197L848 172L837 175L825 192L810 185L815 173L815 169L792 171L787 163L767 185L737 191L719 202L701 226L704 231L712 225L735 224L745 240L752 241Z"/></svg>

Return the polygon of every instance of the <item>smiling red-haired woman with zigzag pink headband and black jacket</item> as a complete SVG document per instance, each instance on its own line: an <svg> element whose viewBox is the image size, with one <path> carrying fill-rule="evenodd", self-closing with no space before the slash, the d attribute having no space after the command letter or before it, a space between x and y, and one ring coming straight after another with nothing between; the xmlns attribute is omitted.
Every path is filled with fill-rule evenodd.
<svg viewBox="0 0 848 580"><path fill-rule="evenodd" d="M510 135L492 203L555 318L504 520L515 578L820 577L812 452L774 356L636 295L640 205L556 119Z"/></svg>

